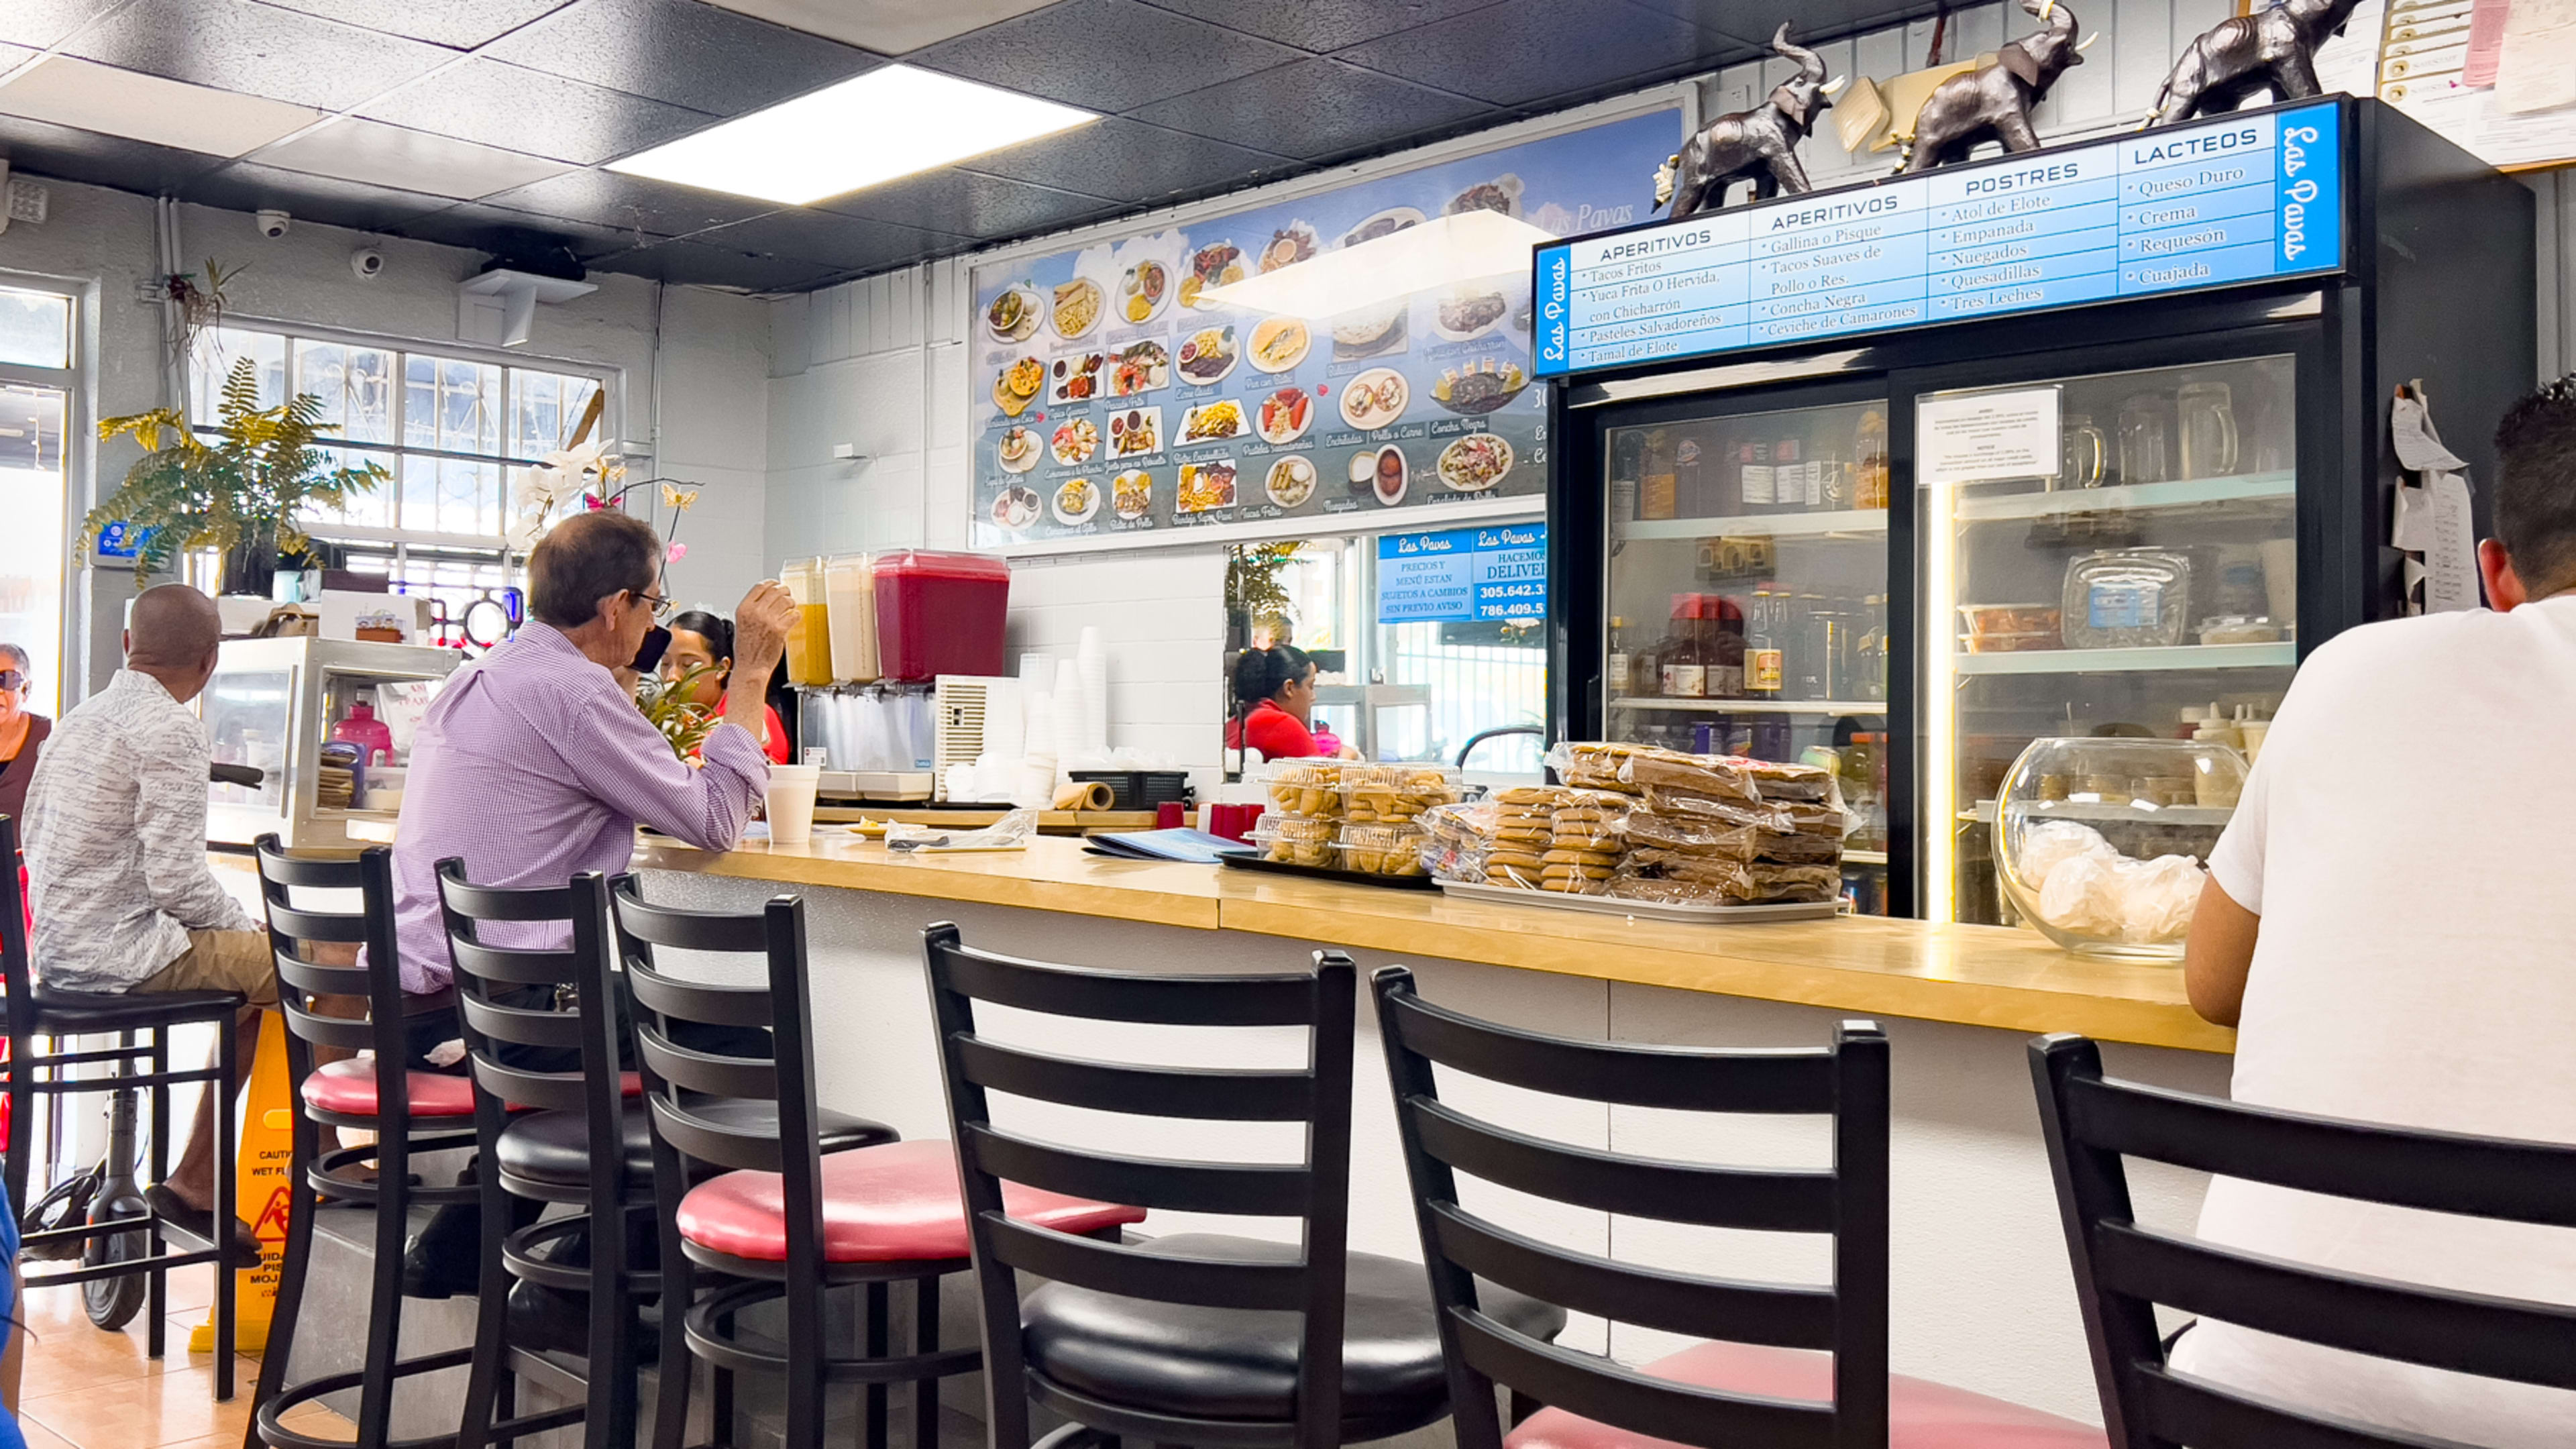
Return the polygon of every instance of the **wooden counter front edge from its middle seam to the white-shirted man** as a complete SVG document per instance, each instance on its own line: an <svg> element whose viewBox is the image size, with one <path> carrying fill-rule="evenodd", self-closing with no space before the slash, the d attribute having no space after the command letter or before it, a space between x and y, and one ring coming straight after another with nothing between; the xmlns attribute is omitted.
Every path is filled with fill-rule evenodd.
<svg viewBox="0 0 2576 1449"><path fill-rule="evenodd" d="M1226 931L1288 936L1327 946L1417 954L1494 967L1520 967L1595 977L1628 985L1659 985L1710 995L1783 1000L1873 1016L1906 1016L1986 1026L1994 1031L2081 1031L2102 1042L2172 1047L2179 1052L2236 1049L2236 1031L2213 1026L2190 1006L2094 995L2084 990L2038 990L2025 985L1958 982L1904 972L1868 972L1826 964L1790 964L1723 951L1607 951L1579 949L1551 936L1520 936L1492 928L1437 928L1378 913L1280 905L1267 900L1226 900L1218 913ZM1427 938L1430 936L1430 938Z"/></svg>

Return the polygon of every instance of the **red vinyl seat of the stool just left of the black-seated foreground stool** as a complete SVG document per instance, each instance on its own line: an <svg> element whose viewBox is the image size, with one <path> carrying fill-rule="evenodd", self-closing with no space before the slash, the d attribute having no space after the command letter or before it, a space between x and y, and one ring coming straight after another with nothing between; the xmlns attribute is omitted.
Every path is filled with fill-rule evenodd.
<svg viewBox="0 0 2576 1449"><path fill-rule="evenodd" d="M1005 1183L1020 1222L1056 1232L1097 1232L1144 1222L1118 1207ZM680 1238L755 1263L788 1258L786 1189L778 1173L724 1173L680 1199ZM938 1263L966 1258L966 1199L956 1147L940 1140L886 1142L822 1160L822 1256L827 1263Z"/></svg>

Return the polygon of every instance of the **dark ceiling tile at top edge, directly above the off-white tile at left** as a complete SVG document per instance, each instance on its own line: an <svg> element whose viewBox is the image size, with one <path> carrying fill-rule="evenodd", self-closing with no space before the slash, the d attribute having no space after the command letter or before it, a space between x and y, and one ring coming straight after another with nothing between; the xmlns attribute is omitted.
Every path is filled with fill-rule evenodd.
<svg viewBox="0 0 2576 1449"><path fill-rule="evenodd" d="M137 0L85 28L64 54L322 111L456 59L443 46L240 0Z"/></svg>

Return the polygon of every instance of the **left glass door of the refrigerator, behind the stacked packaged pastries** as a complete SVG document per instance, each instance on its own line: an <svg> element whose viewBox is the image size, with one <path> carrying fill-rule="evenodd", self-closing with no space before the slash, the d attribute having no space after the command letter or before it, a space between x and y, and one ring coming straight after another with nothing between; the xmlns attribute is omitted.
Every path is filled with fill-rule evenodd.
<svg viewBox="0 0 2576 1449"><path fill-rule="evenodd" d="M1602 449L1607 737L1839 768L1844 887L1883 913L1886 400L1710 400L1610 425Z"/></svg>

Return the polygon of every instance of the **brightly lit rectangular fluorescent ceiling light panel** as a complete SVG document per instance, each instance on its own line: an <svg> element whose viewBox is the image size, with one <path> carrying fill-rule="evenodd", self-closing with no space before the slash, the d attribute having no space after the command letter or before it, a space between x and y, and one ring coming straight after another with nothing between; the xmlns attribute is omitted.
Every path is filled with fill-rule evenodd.
<svg viewBox="0 0 2576 1449"><path fill-rule="evenodd" d="M804 206L1097 119L1036 95L889 64L608 162L608 170Z"/></svg>

